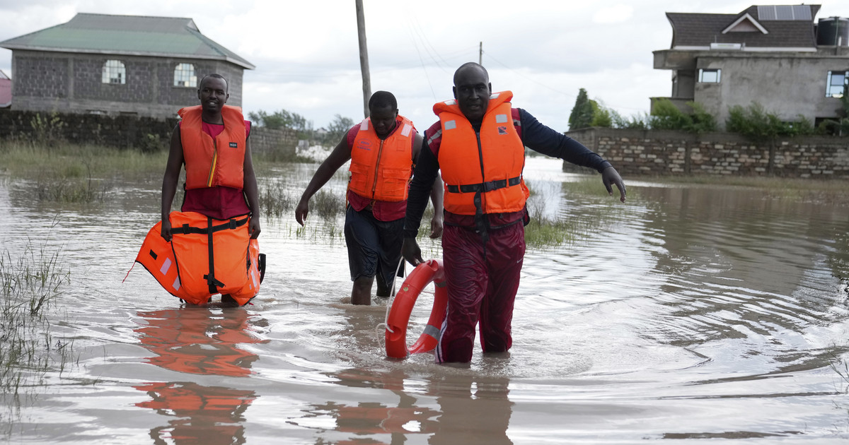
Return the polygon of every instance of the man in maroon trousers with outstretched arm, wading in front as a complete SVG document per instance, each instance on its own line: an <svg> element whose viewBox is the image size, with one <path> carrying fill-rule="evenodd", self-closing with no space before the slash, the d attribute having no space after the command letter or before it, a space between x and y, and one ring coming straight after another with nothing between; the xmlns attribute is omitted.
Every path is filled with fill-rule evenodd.
<svg viewBox="0 0 849 445"><path fill-rule="evenodd" d="M436 346L437 362L472 358L475 325L481 323L484 353L510 348L510 322L525 257L526 198L522 169L525 147L573 164L591 167L612 195L625 184L610 163L521 108L511 92L492 93L480 64L454 73L454 99L436 103L440 121L424 131L425 147L410 186L403 256L422 263L416 234L427 193L441 171L445 181L442 260L447 277L448 314Z"/></svg>

